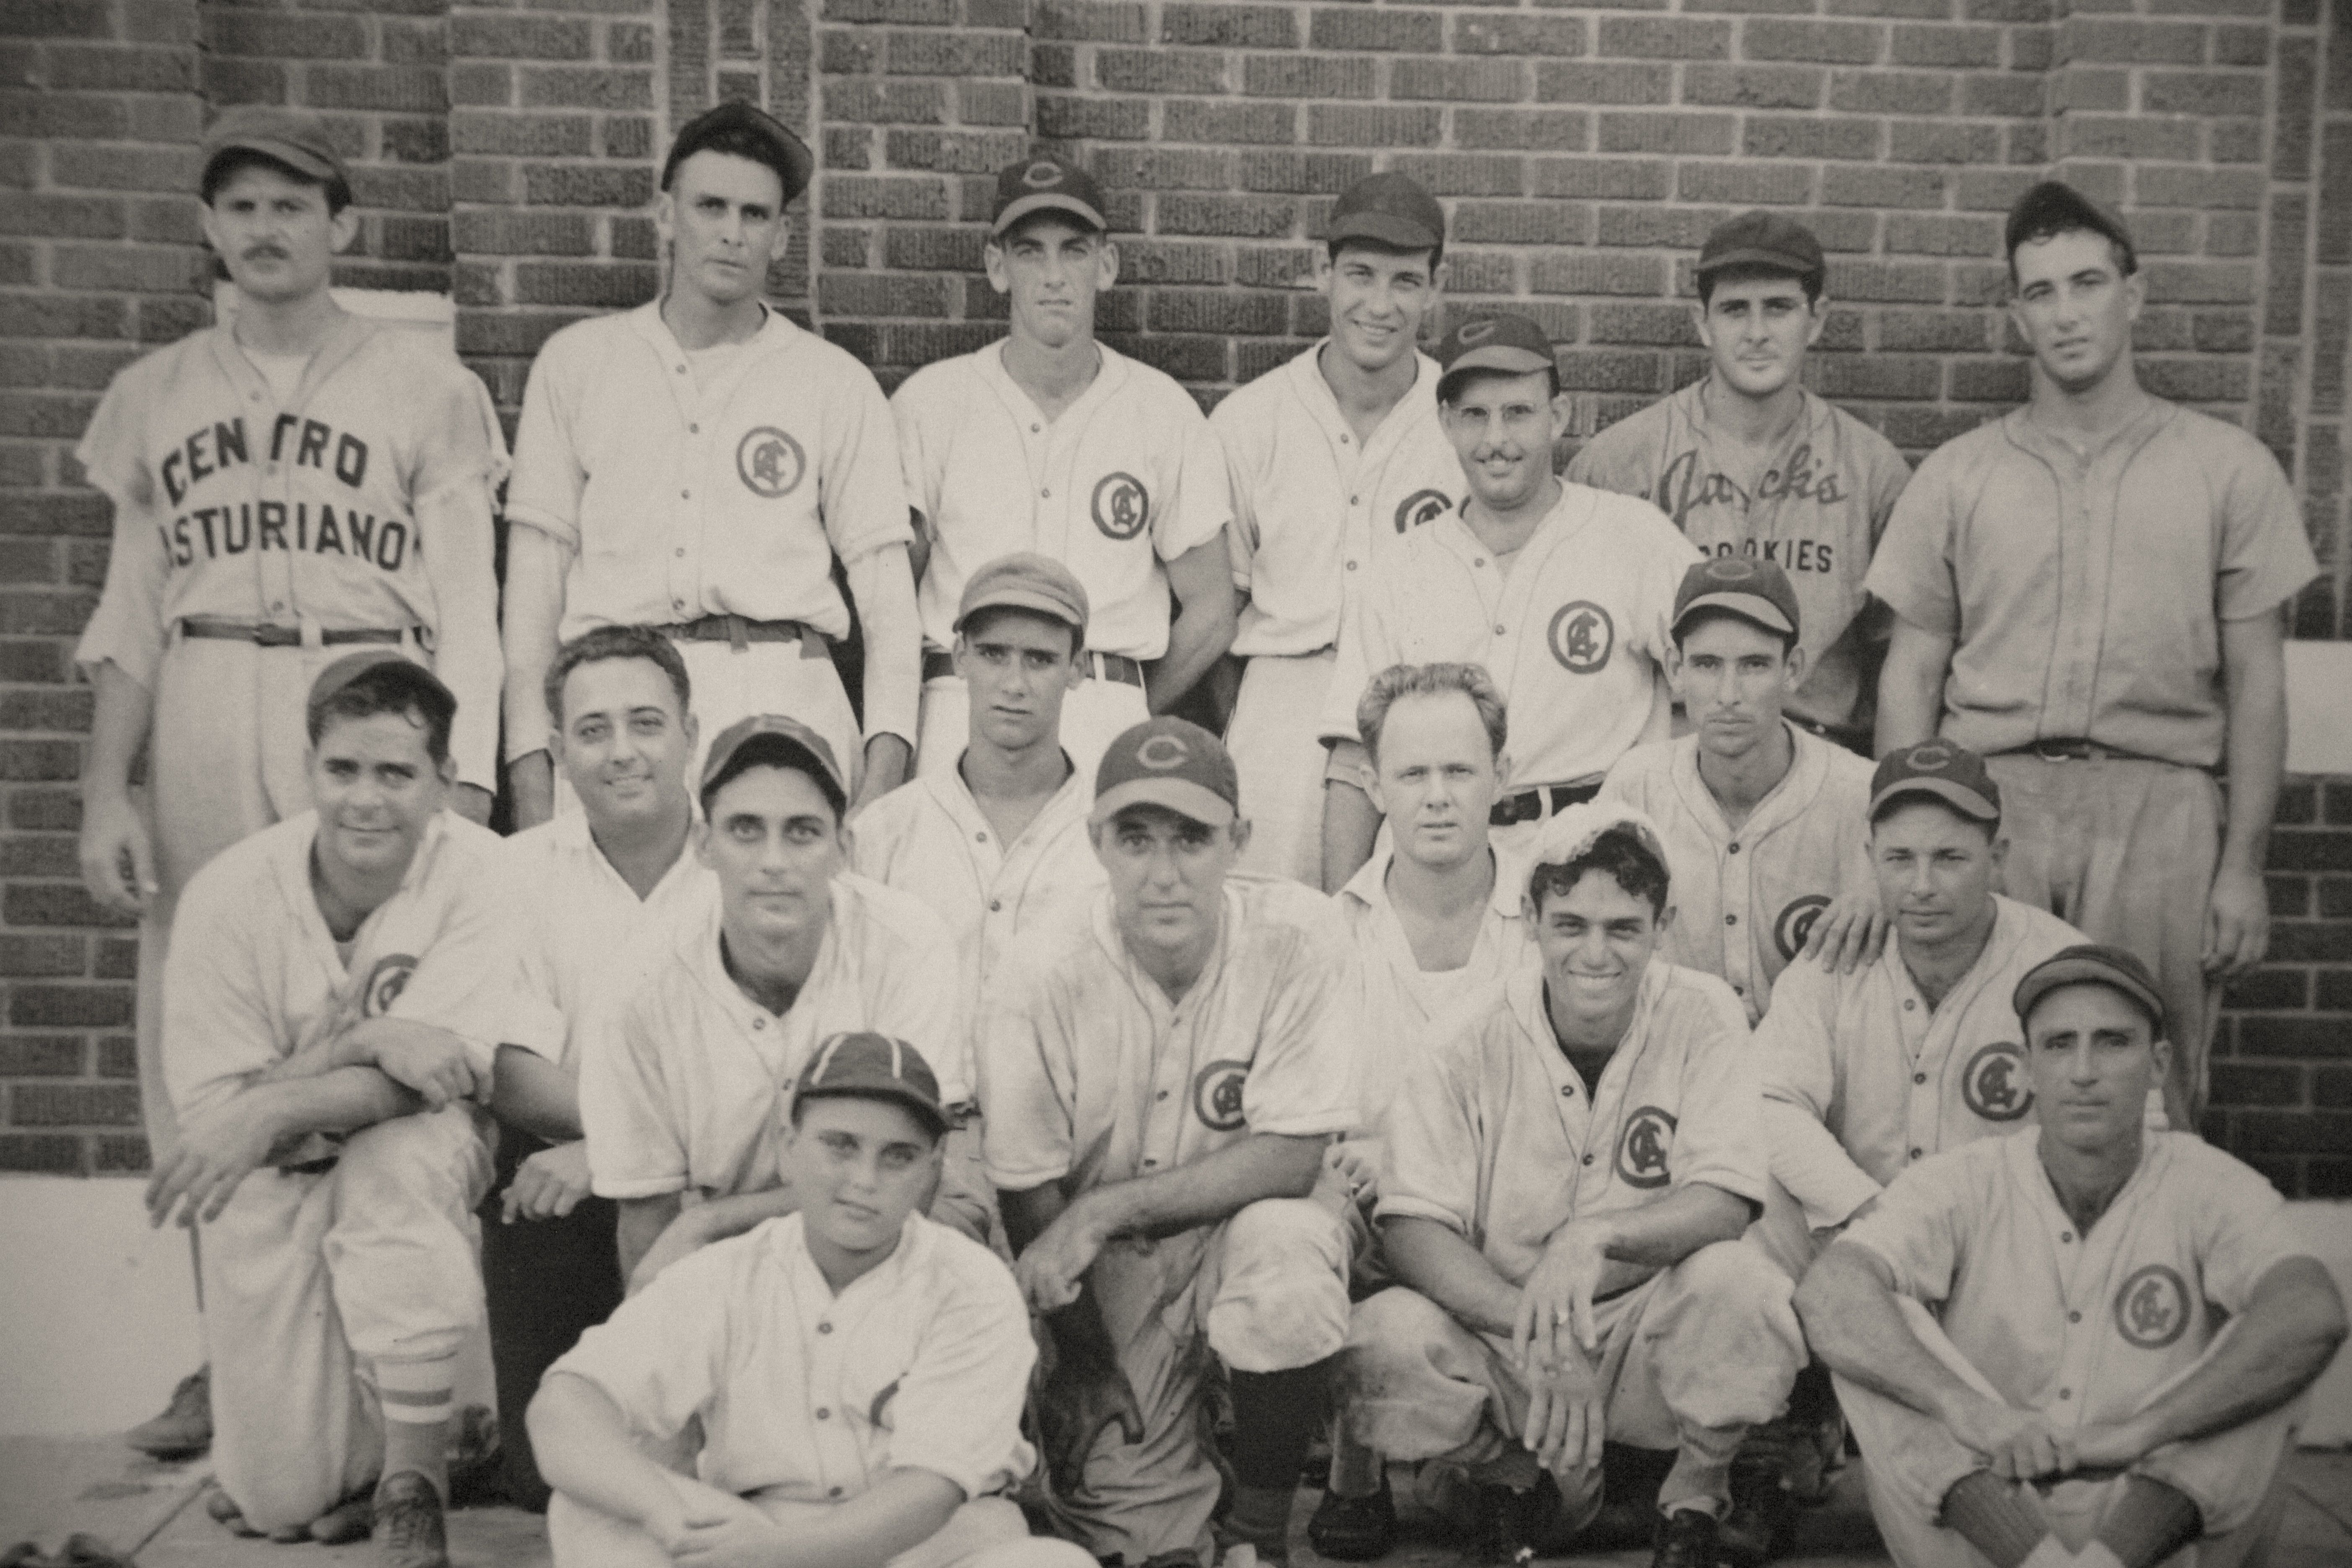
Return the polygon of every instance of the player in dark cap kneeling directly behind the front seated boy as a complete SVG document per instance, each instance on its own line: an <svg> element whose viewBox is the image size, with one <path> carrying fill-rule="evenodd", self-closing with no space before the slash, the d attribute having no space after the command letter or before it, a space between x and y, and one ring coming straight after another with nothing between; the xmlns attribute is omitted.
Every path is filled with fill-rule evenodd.
<svg viewBox="0 0 2352 1568"><path fill-rule="evenodd" d="M783 715L731 724L703 759L701 806L694 851L717 898L659 933L581 1056L590 1187L621 1204L633 1293L694 1248L793 1213L779 1105L818 1041L913 1041L950 1063L948 1103L971 1100L955 1074L957 992L938 983L955 943L922 900L849 870L849 780L826 738ZM946 1201L985 1234L981 1194Z"/></svg>

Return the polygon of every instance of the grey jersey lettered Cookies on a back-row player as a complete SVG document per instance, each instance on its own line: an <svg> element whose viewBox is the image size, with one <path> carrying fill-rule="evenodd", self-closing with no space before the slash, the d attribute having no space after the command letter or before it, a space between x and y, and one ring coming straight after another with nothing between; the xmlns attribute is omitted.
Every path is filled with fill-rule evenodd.
<svg viewBox="0 0 2352 1568"><path fill-rule="evenodd" d="M1788 710L1853 726L1875 705L1870 682L1886 639L1884 611L1865 614L1863 574L1910 463L1884 435L1804 393L1757 470L1708 418L1710 386L1703 376L1616 421L1569 458L1566 477L1651 501L1708 555L1778 562L1804 611L1806 677Z"/></svg>

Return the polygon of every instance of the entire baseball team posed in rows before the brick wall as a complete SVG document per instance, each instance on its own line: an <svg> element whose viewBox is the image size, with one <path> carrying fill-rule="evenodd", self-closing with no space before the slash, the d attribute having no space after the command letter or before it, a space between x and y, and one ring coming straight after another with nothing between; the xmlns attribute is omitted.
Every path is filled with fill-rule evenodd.
<svg viewBox="0 0 2352 1568"><path fill-rule="evenodd" d="M762 303L811 172L687 122L661 299L508 461L329 294L327 129L214 127L230 308L78 451L82 875L209 1356L134 1443L388 1568L485 1469L557 1568L1374 1561L1399 1500L1757 1568L1849 1439L1903 1568L2263 1559L2345 1307L2197 1126L2317 564L2140 386L2114 214L2018 200L2030 400L1917 473L1733 216L1705 376L1562 475L1402 174L1204 416L1051 153L1007 334L884 397Z"/></svg>

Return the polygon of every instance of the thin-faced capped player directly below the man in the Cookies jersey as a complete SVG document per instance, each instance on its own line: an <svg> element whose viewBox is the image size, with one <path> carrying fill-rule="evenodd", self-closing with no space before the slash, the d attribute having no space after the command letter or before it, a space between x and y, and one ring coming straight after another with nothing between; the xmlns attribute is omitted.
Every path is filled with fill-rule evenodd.
<svg viewBox="0 0 2352 1568"><path fill-rule="evenodd" d="M1886 931L1865 835L1870 764L1788 722L1804 684L1797 588L1769 559L1682 576L1668 675L1693 731L1616 759L1602 797L1642 811L1675 863L1668 961L1731 983L1748 1023L1799 954L1846 969Z"/></svg>

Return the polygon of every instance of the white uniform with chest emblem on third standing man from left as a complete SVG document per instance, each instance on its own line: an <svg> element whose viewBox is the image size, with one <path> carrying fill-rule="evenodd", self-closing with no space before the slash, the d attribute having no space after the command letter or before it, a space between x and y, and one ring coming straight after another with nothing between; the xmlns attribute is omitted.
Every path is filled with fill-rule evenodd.
<svg viewBox="0 0 2352 1568"><path fill-rule="evenodd" d="M1091 654L1167 654L1164 562L1223 531L1225 461L1188 390L1096 348L1103 367L1051 421L1004 369L1004 343L927 364L891 395L906 498L931 538L915 592L924 646L955 646L955 609L974 571L1037 550L1084 583ZM1061 743L1091 780L1103 750L1145 717L1143 686L1096 665L1063 701ZM964 679L924 679L915 766L953 771L969 733Z"/></svg>

